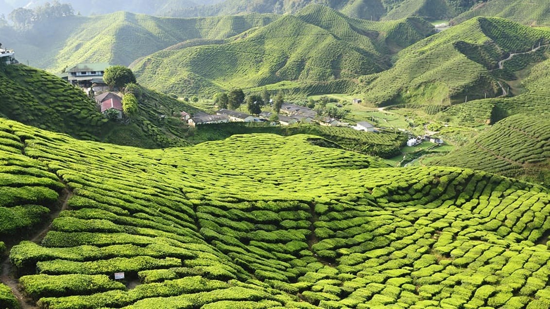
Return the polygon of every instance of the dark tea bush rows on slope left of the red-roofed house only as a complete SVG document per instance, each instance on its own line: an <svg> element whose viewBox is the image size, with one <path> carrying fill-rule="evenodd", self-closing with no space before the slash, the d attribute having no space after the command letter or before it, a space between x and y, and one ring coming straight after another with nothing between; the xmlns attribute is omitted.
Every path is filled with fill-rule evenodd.
<svg viewBox="0 0 550 309"><path fill-rule="evenodd" d="M0 70L0 100L10 119L78 138L96 139L107 122L83 91L25 65Z"/></svg>

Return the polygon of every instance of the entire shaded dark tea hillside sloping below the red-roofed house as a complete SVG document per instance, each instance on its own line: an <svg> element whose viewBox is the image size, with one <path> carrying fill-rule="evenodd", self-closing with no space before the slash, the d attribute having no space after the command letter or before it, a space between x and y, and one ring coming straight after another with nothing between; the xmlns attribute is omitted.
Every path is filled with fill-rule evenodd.
<svg viewBox="0 0 550 309"><path fill-rule="evenodd" d="M0 70L0 114L9 119L92 141L146 148L189 144L188 126L177 114L198 109L140 86L135 94L138 114L123 125L108 122L94 100L46 71L21 64Z"/></svg>

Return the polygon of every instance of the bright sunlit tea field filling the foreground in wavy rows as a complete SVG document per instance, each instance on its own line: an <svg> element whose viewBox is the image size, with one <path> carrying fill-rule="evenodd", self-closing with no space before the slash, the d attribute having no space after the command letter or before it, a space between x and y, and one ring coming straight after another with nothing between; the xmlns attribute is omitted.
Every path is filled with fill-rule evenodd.
<svg viewBox="0 0 550 309"><path fill-rule="evenodd" d="M388 168L305 135L144 150L0 128L12 145L2 158L26 158L0 161L2 190L47 185L17 172L32 164L60 178L56 194L69 191L45 237L14 246L4 263L41 308L550 304L542 187ZM36 204L26 193L18 203Z"/></svg>

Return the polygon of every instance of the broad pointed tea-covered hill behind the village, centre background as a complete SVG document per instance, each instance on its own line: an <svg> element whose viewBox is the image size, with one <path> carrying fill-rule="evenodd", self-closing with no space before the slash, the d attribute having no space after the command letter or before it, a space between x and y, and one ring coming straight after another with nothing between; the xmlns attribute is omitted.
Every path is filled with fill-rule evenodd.
<svg viewBox="0 0 550 309"><path fill-rule="evenodd" d="M388 69L388 55L432 33L425 20L387 23L347 18L309 5L223 44L169 48L133 64L138 81L161 92L213 93L296 81L349 91L350 78ZM310 91L315 91L312 88Z"/></svg>

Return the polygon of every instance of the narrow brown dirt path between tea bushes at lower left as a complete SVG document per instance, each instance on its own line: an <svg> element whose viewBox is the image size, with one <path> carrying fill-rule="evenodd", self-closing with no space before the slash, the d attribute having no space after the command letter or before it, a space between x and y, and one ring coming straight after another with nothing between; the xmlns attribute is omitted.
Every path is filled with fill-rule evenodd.
<svg viewBox="0 0 550 309"><path fill-rule="evenodd" d="M44 228L40 229L36 234L34 234L34 236L31 237L30 241L34 243L39 243L40 241L42 241L46 233L50 231L52 227L52 221L59 216L60 212L67 209L67 203L71 196L73 196L73 193L70 192L67 187L65 187L58 201L58 205L61 204L61 207L57 206L54 211L50 212L50 216L45 223L47 225ZM2 273L0 274L0 282L9 286L9 288L12 289L13 294L15 295L15 297L17 297L17 300L19 301L21 309L38 308L34 301L32 301L29 297L24 296L19 290L19 280L17 279L17 274L15 274L15 270L9 260L9 256L2 261L0 267L2 269Z"/></svg>

